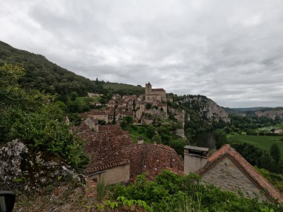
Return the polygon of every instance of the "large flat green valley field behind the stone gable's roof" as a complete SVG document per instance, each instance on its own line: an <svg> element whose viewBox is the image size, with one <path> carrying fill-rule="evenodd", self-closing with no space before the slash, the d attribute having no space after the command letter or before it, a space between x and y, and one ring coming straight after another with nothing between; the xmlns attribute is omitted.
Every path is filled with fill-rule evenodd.
<svg viewBox="0 0 283 212"><path fill-rule="evenodd" d="M279 141L283 136L247 136L232 135L228 137L228 141L238 141L242 143L250 143L264 151L269 151L272 143L277 143L283 155L283 141Z"/></svg>

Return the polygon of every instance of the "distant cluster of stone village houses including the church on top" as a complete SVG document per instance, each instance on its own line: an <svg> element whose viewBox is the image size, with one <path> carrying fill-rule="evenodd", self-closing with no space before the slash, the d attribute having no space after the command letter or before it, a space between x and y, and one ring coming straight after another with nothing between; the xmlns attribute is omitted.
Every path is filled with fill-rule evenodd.
<svg viewBox="0 0 283 212"><path fill-rule="evenodd" d="M98 97L100 94L88 93L89 97ZM145 93L139 95L119 95L115 94L112 99L105 104L103 110L91 110L81 114L81 119L87 119L86 123L99 121L106 124L118 124L126 116L131 116L134 123L151 124L152 116L167 118L166 91L163 88L152 88L151 83L146 83ZM100 105L100 103L98 103ZM114 123L115 122L115 123Z"/></svg>

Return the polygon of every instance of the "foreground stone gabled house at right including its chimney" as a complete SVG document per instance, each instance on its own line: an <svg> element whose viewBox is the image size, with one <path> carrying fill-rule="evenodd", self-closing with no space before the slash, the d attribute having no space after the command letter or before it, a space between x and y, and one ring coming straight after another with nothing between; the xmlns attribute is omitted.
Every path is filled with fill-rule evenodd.
<svg viewBox="0 0 283 212"><path fill-rule="evenodd" d="M208 156L208 148L185 146L185 174L197 172L203 182L232 192L241 189L262 201L283 201L282 194L229 144Z"/></svg>

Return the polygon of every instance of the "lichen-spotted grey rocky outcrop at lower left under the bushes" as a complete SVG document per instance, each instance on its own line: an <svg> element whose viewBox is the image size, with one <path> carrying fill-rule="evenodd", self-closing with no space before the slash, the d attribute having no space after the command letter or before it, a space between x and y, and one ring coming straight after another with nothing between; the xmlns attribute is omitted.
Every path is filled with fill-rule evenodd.
<svg viewBox="0 0 283 212"><path fill-rule="evenodd" d="M30 190L67 178L84 180L60 158L33 151L18 139L0 148L1 189Z"/></svg>

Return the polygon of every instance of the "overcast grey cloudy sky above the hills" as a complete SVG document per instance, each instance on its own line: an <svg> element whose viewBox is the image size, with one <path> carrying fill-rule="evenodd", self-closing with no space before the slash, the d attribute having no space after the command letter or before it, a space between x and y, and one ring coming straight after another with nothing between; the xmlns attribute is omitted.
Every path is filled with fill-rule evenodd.
<svg viewBox="0 0 283 212"><path fill-rule="evenodd" d="M283 106L282 0L0 0L0 40L99 80Z"/></svg>

